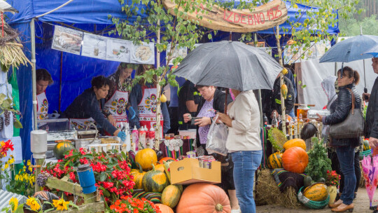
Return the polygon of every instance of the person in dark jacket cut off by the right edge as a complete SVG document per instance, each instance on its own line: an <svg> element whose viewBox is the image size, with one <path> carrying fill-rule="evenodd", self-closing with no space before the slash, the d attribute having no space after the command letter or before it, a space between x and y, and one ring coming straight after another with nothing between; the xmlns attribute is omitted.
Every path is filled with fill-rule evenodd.
<svg viewBox="0 0 378 213"><path fill-rule="evenodd" d="M378 74L378 57L372 58L372 68L374 73ZM378 78L374 81L372 93L363 93L363 99L369 102L366 111L365 137L369 138L369 145L374 149L378 146Z"/></svg>

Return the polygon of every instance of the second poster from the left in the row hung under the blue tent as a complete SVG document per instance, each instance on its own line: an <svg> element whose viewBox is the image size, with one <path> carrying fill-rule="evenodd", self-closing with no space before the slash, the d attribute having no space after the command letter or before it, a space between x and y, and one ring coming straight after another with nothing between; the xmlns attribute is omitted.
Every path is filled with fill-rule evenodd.
<svg viewBox="0 0 378 213"><path fill-rule="evenodd" d="M106 41L104 36L84 33L81 55L106 60Z"/></svg>

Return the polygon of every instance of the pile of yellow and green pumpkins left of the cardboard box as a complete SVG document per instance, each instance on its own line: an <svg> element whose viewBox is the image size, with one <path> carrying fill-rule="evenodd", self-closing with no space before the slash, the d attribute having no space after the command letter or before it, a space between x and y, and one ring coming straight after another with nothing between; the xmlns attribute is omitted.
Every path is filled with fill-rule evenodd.
<svg viewBox="0 0 378 213"><path fill-rule="evenodd" d="M181 193L183 193L183 186L171 183L171 174L169 171L169 164L176 161L174 158L162 158L158 161L158 156L153 149L142 149L133 158L129 152L129 159L132 161L132 169L130 174L134 176L134 191L145 191L149 194L160 196L160 209L164 207L169 209L176 207L179 203ZM173 212L173 210L172 210Z"/></svg>

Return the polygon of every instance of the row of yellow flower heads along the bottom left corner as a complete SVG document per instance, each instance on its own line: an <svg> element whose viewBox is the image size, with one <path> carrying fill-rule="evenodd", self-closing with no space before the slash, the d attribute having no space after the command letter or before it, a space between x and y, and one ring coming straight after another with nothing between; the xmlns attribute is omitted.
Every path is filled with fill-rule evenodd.
<svg viewBox="0 0 378 213"><path fill-rule="evenodd" d="M48 203L50 205L52 205L52 208L51 209L46 209L46 210L43 210L41 208L42 206L42 203L40 200L38 200L38 198L34 198L34 197L30 197L27 199L27 202L26 202L26 205L25 206L25 209L28 209L32 212L38 212L38 213L44 213L44 212L51 212L51 211L54 211L54 210L58 210L58 211L63 211L63 210L68 210L69 207L73 207L73 208L76 208L78 209L78 206L75 205L72 201L65 201L63 199L59 199L59 200L52 200L52 203L51 202L48 202L48 201L44 201L43 203ZM22 205L18 205L18 199L17 198L10 198L9 200L9 205L10 207L4 207L3 209L1 209L1 212L24 212L24 205L25 204L22 204Z"/></svg>

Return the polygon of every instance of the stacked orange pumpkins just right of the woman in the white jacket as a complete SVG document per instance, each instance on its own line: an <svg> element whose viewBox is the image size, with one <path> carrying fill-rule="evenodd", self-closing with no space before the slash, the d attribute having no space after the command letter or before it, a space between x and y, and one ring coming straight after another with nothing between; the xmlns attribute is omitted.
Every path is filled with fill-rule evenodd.
<svg viewBox="0 0 378 213"><path fill-rule="evenodd" d="M290 139L283 144L283 150L269 156L267 166L271 169L282 168L295 173L303 173L309 163L306 143L302 139Z"/></svg>

